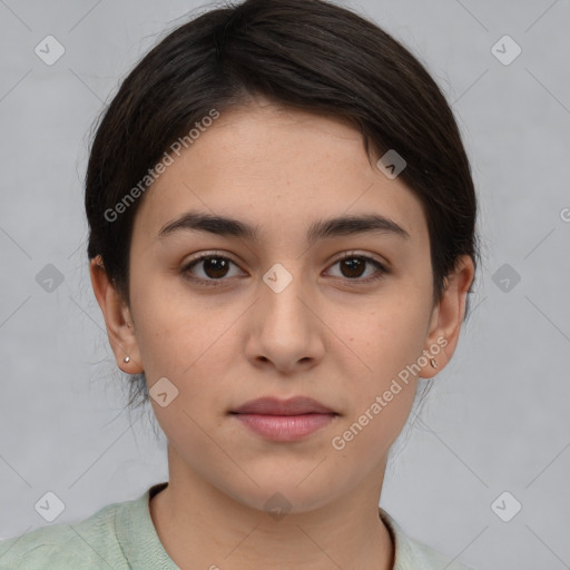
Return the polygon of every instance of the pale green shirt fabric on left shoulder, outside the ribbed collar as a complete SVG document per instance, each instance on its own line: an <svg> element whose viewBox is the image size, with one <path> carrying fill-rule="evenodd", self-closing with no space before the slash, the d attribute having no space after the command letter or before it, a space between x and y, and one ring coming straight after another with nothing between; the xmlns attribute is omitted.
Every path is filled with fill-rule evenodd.
<svg viewBox="0 0 570 570"><path fill-rule="evenodd" d="M116 538L115 518L121 504L104 507L77 523L41 527L0 541L0 570L127 570Z"/></svg>

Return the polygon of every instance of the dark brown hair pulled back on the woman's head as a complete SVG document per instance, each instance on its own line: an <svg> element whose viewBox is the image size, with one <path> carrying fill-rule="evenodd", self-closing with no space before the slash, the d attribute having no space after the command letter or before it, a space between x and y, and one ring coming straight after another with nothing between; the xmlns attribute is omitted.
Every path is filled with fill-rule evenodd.
<svg viewBox="0 0 570 570"><path fill-rule="evenodd" d="M87 253L101 257L127 303L131 229L144 196L117 216L109 212L212 109L223 114L257 95L350 122L368 158L395 149L405 159L400 179L426 216L434 302L461 255L476 267L469 160L422 63L375 23L334 3L246 0L171 31L126 77L97 128L86 176ZM147 400L144 375L134 381Z"/></svg>

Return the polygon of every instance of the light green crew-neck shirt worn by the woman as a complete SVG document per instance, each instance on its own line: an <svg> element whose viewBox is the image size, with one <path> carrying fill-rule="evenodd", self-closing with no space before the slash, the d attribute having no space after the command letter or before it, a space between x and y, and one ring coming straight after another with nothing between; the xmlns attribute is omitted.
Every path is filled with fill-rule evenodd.
<svg viewBox="0 0 570 570"><path fill-rule="evenodd" d="M148 507L167 484L104 507L78 523L41 527L0 541L0 570L180 570L164 549ZM470 570L406 537L383 509L380 517L395 543L393 570Z"/></svg>

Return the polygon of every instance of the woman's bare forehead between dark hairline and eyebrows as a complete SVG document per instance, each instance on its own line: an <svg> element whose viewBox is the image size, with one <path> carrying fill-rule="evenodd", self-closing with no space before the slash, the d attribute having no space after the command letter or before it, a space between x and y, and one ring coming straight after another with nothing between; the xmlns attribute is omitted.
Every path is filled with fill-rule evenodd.
<svg viewBox="0 0 570 570"><path fill-rule="evenodd" d="M283 239L342 214L376 213L411 235L426 232L417 197L371 166L362 135L335 118L252 104L223 112L173 159L137 212L145 238L197 209L262 234L278 228Z"/></svg>

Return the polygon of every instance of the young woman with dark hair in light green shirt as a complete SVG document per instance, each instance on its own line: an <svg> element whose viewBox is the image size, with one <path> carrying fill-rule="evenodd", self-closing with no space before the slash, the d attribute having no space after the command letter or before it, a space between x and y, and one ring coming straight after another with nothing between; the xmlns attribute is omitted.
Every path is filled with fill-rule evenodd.
<svg viewBox="0 0 570 570"><path fill-rule="evenodd" d="M86 212L169 481L3 541L0 568L466 568L379 509L479 256L456 124L405 48L320 0L204 13L106 110Z"/></svg>

